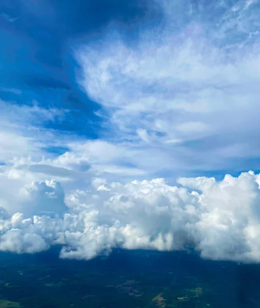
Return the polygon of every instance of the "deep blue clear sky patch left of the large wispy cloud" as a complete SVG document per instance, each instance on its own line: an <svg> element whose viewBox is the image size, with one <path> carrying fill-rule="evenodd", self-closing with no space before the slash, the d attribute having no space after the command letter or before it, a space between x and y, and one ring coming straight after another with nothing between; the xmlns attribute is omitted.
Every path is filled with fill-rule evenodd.
<svg viewBox="0 0 260 308"><path fill-rule="evenodd" d="M131 36L139 27L132 23L145 20L145 2L15 0L2 1L0 11L1 99L69 109L46 128L97 138L100 106L78 86L72 49L101 38L110 23Z"/></svg>

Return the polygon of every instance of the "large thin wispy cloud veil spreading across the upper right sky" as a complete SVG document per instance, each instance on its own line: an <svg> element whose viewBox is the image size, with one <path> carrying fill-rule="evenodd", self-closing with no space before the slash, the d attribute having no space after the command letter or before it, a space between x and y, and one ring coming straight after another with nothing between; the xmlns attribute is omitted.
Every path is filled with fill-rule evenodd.
<svg viewBox="0 0 260 308"><path fill-rule="evenodd" d="M260 129L255 2L156 3L163 24L134 44L111 27L102 44L75 52L79 83L110 115L110 141L148 178L154 171L237 169L236 158L251 167ZM148 152L157 157L152 166Z"/></svg>

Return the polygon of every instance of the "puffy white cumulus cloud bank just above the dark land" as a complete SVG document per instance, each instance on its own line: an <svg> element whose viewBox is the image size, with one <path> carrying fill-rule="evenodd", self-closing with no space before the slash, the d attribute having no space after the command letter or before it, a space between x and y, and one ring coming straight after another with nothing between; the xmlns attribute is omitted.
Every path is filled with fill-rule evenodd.
<svg viewBox="0 0 260 308"><path fill-rule="evenodd" d="M33 183L25 188L28 202L58 214L8 217L6 206L0 249L35 253L62 245L62 258L88 260L113 247L194 247L204 258L260 262L259 178L249 171L222 181L181 178L180 186L164 179L127 184L94 179L91 190L74 190L66 198L55 181Z"/></svg>

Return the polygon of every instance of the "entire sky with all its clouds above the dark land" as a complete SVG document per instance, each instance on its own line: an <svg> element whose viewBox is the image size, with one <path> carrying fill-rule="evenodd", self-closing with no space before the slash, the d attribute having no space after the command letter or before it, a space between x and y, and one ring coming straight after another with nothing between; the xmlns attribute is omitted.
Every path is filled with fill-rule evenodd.
<svg viewBox="0 0 260 308"><path fill-rule="evenodd" d="M260 262L258 0L2 0L0 251Z"/></svg>

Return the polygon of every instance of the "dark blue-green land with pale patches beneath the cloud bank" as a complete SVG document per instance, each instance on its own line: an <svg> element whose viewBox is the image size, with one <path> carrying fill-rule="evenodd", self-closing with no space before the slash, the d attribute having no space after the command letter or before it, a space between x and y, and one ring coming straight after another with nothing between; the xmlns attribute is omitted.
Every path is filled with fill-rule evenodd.
<svg viewBox="0 0 260 308"><path fill-rule="evenodd" d="M0 254L0 308L260 307L260 266L195 253L123 251L90 261Z"/></svg>

